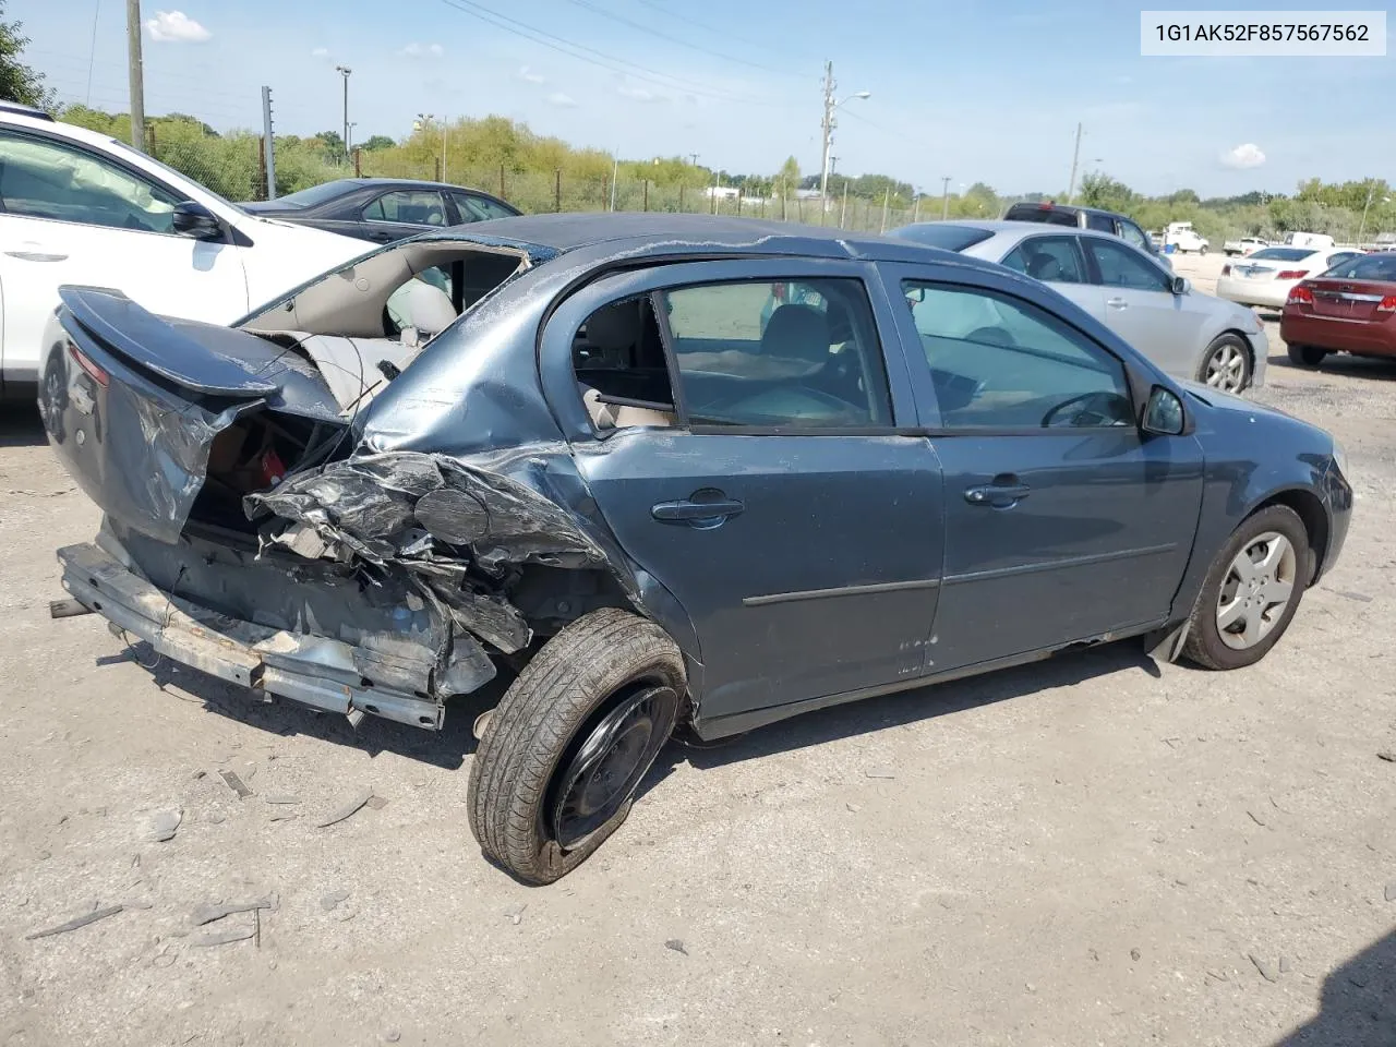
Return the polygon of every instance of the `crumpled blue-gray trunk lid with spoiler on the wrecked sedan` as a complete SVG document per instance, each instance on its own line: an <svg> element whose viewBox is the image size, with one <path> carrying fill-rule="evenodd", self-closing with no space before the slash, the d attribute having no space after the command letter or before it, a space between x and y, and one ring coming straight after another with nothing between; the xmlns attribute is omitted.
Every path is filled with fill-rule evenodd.
<svg viewBox="0 0 1396 1047"><path fill-rule="evenodd" d="M324 378L288 346L156 317L114 290L59 296L39 392L49 443L92 501L141 533L179 539L211 461L222 476L211 514L246 526L242 494L276 483L297 444L348 429ZM250 426L257 415L274 420Z"/></svg>

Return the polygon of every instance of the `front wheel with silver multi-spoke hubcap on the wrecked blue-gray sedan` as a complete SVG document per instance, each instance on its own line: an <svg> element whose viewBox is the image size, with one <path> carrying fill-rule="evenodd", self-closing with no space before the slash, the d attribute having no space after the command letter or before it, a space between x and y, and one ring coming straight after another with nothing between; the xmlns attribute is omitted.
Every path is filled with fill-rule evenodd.
<svg viewBox="0 0 1396 1047"><path fill-rule="evenodd" d="M1212 561L1184 656L1203 669L1255 664L1290 627L1312 574L1308 532L1294 510L1270 505L1248 517Z"/></svg>

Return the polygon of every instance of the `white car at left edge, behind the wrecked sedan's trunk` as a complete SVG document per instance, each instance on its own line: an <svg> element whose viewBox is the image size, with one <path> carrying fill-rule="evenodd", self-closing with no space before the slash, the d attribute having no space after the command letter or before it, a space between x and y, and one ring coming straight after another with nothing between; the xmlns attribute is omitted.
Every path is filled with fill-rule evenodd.
<svg viewBox="0 0 1396 1047"><path fill-rule="evenodd" d="M64 283L230 324L366 247L257 218L109 135L0 102L0 398L34 395Z"/></svg>

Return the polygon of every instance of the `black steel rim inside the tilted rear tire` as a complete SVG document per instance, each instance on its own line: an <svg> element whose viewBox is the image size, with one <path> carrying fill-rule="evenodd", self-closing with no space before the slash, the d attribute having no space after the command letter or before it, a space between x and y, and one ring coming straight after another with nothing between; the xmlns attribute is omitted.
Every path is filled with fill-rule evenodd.
<svg viewBox="0 0 1396 1047"><path fill-rule="evenodd" d="M551 836L575 850L616 817L669 740L678 695L639 687L610 708L557 779Z"/></svg>

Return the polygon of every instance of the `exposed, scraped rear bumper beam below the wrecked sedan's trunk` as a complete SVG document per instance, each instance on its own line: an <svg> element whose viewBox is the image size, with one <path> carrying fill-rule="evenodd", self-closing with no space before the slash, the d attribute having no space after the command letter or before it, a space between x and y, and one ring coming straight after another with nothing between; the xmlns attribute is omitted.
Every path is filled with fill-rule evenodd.
<svg viewBox="0 0 1396 1047"><path fill-rule="evenodd" d="M440 730L445 719L441 702L378 684L366 687L359 667L363 652L350 644L197 607L151 585L95 544L60 549L59 563L63 588L78 603L174 662L345 716L367 712L427 730Z"/></svg>

